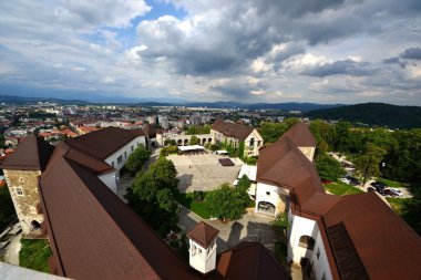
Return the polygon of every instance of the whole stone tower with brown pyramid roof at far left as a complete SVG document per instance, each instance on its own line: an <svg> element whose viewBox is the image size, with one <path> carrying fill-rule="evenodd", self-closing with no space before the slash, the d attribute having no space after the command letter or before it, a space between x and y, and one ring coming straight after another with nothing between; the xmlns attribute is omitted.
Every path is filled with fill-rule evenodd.
<svg viewBox="0 0 421 280"><path fill-rule="evenodd" d="M43 139L28 136L1 165L24 235L41 232L43 216L38 210L38 177L53 151Z"/></svg>

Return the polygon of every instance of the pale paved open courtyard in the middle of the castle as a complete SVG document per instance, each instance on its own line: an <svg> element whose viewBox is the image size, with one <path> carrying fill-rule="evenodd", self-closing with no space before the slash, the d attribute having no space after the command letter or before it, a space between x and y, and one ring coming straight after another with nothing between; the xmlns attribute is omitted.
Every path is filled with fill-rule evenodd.
<svg viewBox="0 0 421 280"><path fill-rule="evenodd" d="M232 184L242 168L243 162L232 158L235 166L222 166L215 154L204 155L170 155L177 169L178 189L182 193L193 190L213 190L223 183Z"/></svg>

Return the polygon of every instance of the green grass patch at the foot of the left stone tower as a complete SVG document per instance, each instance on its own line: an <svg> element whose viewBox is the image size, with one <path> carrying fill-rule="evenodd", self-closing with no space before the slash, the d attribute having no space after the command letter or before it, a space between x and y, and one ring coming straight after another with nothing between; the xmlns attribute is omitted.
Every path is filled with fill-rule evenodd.
<svg viewBox="0 0 421 280"><path fill-rule="evenodd" d="M48 259L52 256L49 242L44 239L21 239L22 248L19 251L19 266L50 272Z"/></svg>

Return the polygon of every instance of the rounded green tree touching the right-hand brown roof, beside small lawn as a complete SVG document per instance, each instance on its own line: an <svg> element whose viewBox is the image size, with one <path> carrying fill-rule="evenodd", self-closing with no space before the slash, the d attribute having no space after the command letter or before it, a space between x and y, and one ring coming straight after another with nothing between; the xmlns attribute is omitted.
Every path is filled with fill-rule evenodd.
<svg viewBox="0 0 421 280"><path fill-rule="evenodd" d="M347 174L340 163L326 153L317 154L315 165L320 178L325 180L337 180Z"/></svg>

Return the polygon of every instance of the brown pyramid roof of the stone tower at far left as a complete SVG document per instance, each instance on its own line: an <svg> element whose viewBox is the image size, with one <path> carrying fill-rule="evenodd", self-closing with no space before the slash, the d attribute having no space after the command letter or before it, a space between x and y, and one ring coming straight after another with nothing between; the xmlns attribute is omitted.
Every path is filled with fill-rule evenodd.
<svg viewBox="0 0 421 280"><path fill-rule="evenodd" d="M27 136L1 168L11 170L44 170L54 147L34 135Z"/></svg>

